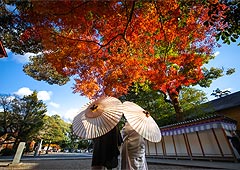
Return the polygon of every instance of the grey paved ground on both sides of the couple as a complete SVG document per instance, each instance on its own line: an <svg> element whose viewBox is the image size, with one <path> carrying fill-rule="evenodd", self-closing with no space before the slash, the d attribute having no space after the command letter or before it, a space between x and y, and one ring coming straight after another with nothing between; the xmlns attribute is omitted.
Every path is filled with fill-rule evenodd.
<svg viewBox="0 0 240 170"><path fill-rule="evenodd" d="M175 160L148 158L149 170L204 170L226 169L240 170L240 163L210 162L197 160ZM54 160L23 160L20 164L12 166L9 161L0 160L0 170L88 170L91 169L91 158L81 159L54 159ZM9 165L10 164L10 165ZM117 170L117 168L116 168Z"/></svg>

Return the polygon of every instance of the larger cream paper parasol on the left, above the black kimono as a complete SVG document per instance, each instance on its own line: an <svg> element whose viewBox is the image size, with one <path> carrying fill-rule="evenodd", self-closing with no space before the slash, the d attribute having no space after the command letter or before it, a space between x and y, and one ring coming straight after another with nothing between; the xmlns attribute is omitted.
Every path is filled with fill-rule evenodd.
<svg viewBox="0 0 240 170"><path fill-rule="evenodd" d="M101 97L89 102L74 117L73 132L83 139L93 139L112 130L123 113L122 102L114 97Z"/></svg>

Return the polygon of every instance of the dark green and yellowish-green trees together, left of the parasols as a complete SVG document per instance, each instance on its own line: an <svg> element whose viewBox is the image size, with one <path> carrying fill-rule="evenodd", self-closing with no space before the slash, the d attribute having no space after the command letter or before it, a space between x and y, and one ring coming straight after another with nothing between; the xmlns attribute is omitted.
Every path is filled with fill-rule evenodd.
<svg viewBox="0 0 240 170"><path fill-rule="evenodd" d="M14 143L16 149L20 141L30 144L40 139L43 144L70 145L71 124L59 115L46 115L46 105L37 99L36 91L22 98L1 95L0 109L0 145Z"/></svg>

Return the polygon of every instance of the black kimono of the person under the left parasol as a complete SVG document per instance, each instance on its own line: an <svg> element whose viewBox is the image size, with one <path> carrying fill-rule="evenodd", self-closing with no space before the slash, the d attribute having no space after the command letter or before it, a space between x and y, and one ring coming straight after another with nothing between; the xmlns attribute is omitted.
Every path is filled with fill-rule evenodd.
<svg viewBox="0 0 240 170"><path fill-rule="evenodd" d="M118 166L118 156L122 137L118 127L114 127L107 134L93 139L92 166L104 166L107 169Z"/></svg>

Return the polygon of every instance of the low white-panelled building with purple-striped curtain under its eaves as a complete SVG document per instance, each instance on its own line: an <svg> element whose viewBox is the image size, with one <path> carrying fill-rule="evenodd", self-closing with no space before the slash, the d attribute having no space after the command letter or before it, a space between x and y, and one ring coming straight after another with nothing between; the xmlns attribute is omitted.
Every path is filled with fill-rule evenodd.
<svg viewBox="0 0 240 170"><path fill-rule="evenodd" d="M236 121L224 116L204 117L160 127L162 140L146 141L146 156L237 162L238 151L230 138Z"/></svg>

